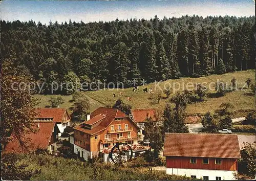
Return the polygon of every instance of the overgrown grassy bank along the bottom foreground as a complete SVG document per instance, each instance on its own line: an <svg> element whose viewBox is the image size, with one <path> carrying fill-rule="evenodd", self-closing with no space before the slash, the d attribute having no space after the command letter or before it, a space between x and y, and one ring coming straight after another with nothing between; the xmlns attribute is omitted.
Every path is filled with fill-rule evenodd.
<svg viewBox="0 0 256 181"><path fill-rule="evenodd" d="M190 177L167 175L161 171L140 171L105 163L87 163L50 155L18 154L19 163L41 172L33 180L190 180ZM44 160L44 163L42 161ZM41 164L39 164L41 163ZM8 172L5 167L5 172Z"/></svg>

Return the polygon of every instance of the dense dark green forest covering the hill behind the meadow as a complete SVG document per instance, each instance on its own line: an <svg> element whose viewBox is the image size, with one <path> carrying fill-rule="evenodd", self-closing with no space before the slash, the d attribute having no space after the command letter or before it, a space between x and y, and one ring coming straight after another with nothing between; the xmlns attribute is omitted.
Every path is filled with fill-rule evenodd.
<svg viewBox="0 0 256 181"><path fill-rule="evenodd" d="M139 85L142 79L223 74L255 68L254 25L254 16L156 15L49 25L1 20L1 61L11 59L47 83L100 80L128 87L133 80Z"/></svg>

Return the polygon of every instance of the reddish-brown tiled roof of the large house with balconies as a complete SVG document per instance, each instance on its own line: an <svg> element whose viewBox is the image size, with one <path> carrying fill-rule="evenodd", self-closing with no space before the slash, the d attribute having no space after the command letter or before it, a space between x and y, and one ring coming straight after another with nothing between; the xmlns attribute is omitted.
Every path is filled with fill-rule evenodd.
<svg viewBox="0 0 256 181"><path fill-rule="evenodd" d="M103 115L103 116L102 116ZM88 134L95 134L101 130L106 129L115 118L120 117L128 117L122 111L114 108L105 108L99 107L98 109L94 110L91 115L91 119L89 121L84 121L81 124L74 127L74 129L88 133ZM103 118L102 118L103 117ZM91 121L92 120L92 121ZM92 125L92 129L83 128L83 123ZM93 125L97 123L98 125L93 127ZM135 124L135 126L137 126Z"/></svg>

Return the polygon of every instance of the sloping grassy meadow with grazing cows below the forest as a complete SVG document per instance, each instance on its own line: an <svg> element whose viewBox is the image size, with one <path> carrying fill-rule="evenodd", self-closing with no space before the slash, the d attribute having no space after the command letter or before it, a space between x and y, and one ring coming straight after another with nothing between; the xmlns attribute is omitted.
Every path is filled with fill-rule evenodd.
<svg viewBox="0 0 256 181"><path fill-rule="evenodd" d="M159 83L159 87L163 88L164 84L165 86L170 85L170 87L175 87L175 89L178 89L178 84L180 84L181 88L184 86L183 89L186 89L186 85L188 85L188 88L193 87L192 85L195 83L204 83L204 85L211 85L212 88L214 85L214 82L216 81L223 81L230 84L230 80L232 78L236 78L238 84L238 87L243 87L245 84L245 81L250 78L252 83L255 83L255 71L254 70L248 70L248 71L239 71L234 73L227 73L223 75L210 75L206 77L200 77L200 78L180 78L180 79L172 79L167 80L164 82ZM211 83L212 82L212 83ZM210 84L211 83L211 84ZM162 93L160 88L156 86L155 83L146 84L144 86L139 86L139 90L136 92L132 92L133 87L131 88L125 88L125 89L105 89L105 90L97 90L97 91L88 91L86 92L86 95L88 96L88 99L90 100L90 111L93 111L99 106L105 106L105 105L113 105L117 99L119 99L118 96L113 97L113 93L116 93L118 95L119 92L123 93L123 96L120 97L123 102L129 103L132 108L151 108L151 107L159 107L164 108L166 102L168 102L168 99L166 99L165 95L163 94L163 98L160 100L159 104L152 102L152 96L148 93L143 93L142 89L147 87L153 88L154 95L157 95L158 92ZM156 89L155 89L156 87ZM235 90L233 92L227 93L223 97L215 97L214 93L215 90L212 88L212 90L209 90L209 96L205 98L205 101L203 102L197 102L195 104L189 104L187 106L187 114L189 115L195 115L195 114L204 114L207 111L216 111L219 106L224 102L230 102L233 104L233 114L231 114L232 117L239 117L239 116L246 116L247 112L246 110L249 109L255 109L255 97L250 94L251 90L247 90L247 85L245 86L244 90ZM174 90L174 88L173 88ZM172 94L169 96L172 97L175 91L172 91ZM40 104L39 107L45 107L49 105L49 98L51 96L58 96L58 95L34 95L35 98L39 99ZM131 97L132 101L126 102L126 98ZM67 107L70 112L72 112L72 95L70 96L62 96L62 98L65 100L65 103L61 104L60 107Z"/></svg>

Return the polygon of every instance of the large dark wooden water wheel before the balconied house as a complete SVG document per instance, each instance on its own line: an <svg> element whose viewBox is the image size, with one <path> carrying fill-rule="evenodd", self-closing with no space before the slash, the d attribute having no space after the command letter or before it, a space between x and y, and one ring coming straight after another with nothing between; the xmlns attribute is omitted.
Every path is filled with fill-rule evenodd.
<svg viewBox="0 0 256 181"><path fill-rule="evenodd" d="M117 143L110 152L110 159L114 164L121 165L130 162L133 157L132 148L126 143Z"/></svg>

